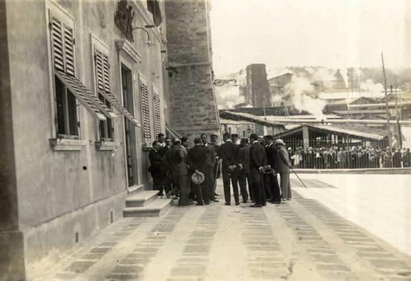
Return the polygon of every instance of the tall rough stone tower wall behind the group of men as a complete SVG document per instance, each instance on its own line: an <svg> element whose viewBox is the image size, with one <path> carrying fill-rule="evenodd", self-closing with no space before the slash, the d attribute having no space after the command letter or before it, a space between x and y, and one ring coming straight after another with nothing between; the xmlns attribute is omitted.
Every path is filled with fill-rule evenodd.
<svg viewBox="0 0 411 281"><path fill-rule="evenodd" d="M182 136L219 134L208 0L166 1L170 122Z"/></svg>

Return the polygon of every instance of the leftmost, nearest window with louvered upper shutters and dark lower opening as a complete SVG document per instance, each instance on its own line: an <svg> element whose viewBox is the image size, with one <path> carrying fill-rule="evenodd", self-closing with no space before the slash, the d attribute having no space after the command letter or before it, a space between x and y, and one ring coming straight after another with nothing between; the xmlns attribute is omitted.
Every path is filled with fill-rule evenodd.
<svg viewBox="0 0 411 281"><path fill-rule="evenodd" d="M75 76L73 27L51 16L51 45L55 69ZM79 137L77 99L58 75L54 77L57 134L64 138Z"/></svg>

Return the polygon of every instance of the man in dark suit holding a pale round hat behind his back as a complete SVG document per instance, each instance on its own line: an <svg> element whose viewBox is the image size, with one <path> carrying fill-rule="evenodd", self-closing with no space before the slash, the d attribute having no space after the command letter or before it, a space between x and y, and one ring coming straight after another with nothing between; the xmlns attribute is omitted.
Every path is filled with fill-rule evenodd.
<svg viewBox="0 0 411 281"><path fill-rule="evenodd" d="M207 149L202 145L201 138L194 139L194 147L188 149L187 163L190 169L201 172L207 177L210 176L208 171L212 168L207 164ZM212 184L212 179L205 179L200 186L192 184L197 198L197 205L210 204L210 184Z"/></svg>

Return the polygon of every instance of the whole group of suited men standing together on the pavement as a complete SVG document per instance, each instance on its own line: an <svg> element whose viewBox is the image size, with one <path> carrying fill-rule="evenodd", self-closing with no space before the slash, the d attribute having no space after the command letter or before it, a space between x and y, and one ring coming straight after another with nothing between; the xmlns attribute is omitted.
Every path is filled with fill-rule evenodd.
<svg viewBox="0 0 411 281"><path fill-rule="evenodd" d="M165 138L158 134L149 152L149 172L158 196L174 196L179 206L208 205L218 202L216 179L223 178L225 205L248 203L253 208L266 206L266 201L280 204L290 200L292 164L285 143L273 136L238 138L237 134L219 136L203 133L190 140L186 137ZM190 147L190 148L189 148ZM279 177L279 181L278 178ZM248 186L248 188L247 188Z"/></svg>

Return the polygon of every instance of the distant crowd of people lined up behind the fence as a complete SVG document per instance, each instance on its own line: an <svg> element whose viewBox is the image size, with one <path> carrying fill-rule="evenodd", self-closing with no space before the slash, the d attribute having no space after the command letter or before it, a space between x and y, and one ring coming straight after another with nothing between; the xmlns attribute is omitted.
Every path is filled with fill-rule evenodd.
<svg viewBox="0 0 411 281"><path fill-rule="evenodd" d="M290 162L299 169L370 169L411 167L410 149L379 147L288 147Z"/></svg>

